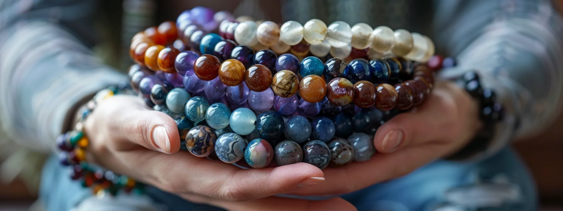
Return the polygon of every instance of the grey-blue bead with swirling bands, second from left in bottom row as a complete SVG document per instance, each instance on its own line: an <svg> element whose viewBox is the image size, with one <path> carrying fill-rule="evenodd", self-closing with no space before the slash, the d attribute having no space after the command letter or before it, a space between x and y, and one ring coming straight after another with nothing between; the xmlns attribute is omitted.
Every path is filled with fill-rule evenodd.
<svg viewBox="0 0 563 211"><path fill-rule="evenodd" d="M225 133L215 142L215 153L225 163L236 163L244 158L247 141L236 133Z"/></svg>

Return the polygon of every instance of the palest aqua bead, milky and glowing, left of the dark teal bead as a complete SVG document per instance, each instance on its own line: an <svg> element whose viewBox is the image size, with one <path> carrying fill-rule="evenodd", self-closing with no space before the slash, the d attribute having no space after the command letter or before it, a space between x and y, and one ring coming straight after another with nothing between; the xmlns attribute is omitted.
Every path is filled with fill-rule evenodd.
<svg viewBox="0 0 563 211"><path fill-rule="evenodd" d="M252 131L256 128L254 126L255 122L256 115L252 110L245 107L240 107L234 110L229 119L231 129L241 136L252 133Z"/></svg>

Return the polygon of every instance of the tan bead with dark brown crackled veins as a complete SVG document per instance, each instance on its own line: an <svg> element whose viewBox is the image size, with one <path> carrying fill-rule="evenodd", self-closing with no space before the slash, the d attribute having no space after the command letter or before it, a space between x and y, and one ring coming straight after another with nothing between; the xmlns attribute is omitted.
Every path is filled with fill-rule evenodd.
<svg viewBox="0 0 563 211"><path fill-rule="evenodd" d="M291 97L299 89L297 75L289 70L279 71L272 78L272 91L280 97Z"/></svg>

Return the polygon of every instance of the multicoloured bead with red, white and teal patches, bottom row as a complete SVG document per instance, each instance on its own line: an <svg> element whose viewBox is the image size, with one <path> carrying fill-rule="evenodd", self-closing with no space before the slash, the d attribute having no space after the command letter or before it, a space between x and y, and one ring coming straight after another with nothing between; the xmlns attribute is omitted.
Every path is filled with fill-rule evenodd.
<svg viewBox="0 0 563 211"><path fill-rule="evenodd" d="M244 149L244 160L252 168L267 167L274 158L274 149L269 142L256 138L248 143Z"/></svg>

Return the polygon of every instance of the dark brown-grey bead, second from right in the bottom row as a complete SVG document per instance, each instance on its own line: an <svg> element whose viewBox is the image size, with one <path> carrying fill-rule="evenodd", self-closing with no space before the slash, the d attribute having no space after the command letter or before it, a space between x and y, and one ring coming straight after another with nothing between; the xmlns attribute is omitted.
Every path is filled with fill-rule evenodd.
<svg viewBox="0 0 563 211"><path fill-rule="evenodd" d="M330 166L342 167L354 161L354 149L344 138L334 137L328 143Z"/></svg>

